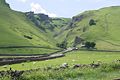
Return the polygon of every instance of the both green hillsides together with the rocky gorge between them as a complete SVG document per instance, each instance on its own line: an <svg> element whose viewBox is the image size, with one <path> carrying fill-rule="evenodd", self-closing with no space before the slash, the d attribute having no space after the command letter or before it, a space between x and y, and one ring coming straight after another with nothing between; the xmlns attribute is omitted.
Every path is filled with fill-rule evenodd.
<svg viewBox="0 0 120 80"><path fill-rule="evenodd" d="M76 37L93 41L98 49L120 49L120 6L85 11L71 19L17 12L0 1L0 46L56 47L64 40L73 46ZM93 23L90 24L90 21ZM79 45L78 45L79 46Z"/></svg>

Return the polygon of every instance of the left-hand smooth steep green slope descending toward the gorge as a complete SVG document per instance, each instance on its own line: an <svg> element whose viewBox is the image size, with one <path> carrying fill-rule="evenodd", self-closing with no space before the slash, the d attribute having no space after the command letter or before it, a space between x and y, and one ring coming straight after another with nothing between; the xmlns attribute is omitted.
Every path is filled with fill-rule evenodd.
<svg viewBox="0 0 120 80"><path fill-rule="evenodd" d="M5 0L0 0L0 46L29 45L54 46L24 13L11 10Z"/></svg>

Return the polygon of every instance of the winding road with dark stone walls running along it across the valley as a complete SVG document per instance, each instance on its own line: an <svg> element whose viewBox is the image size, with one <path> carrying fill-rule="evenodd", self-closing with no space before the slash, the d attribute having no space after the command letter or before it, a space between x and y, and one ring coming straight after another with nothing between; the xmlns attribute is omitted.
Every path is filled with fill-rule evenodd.
<svg viewBox="0 0 120 80"><path fill-rule="evenodd" d="M55 59L64 57L65 53L71 51L96 51L96 52L120 52L120 51L113 51L113 50L86 50L86 49L77 49L77 48L68 48L66 50L57 51L50 54L27 54L27 55L13 55L13 54L0 54L0 56L14 56L14 57L6 57L0 58L0 66L7 65L7 64L16 64L22 63L27 61L43 61L48 59Z"/></svg>

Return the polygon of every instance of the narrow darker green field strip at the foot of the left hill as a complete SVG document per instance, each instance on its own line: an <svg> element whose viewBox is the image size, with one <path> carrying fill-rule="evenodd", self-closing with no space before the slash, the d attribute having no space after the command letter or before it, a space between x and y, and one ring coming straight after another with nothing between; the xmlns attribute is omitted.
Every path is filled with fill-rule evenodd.
<svg viewBox="0 0 120 80"><path fill-rule="evenodd" d="M58 50L46 48L7 48L0 49L0 54L49 54L56 51Z"/></svg>

